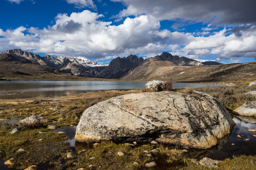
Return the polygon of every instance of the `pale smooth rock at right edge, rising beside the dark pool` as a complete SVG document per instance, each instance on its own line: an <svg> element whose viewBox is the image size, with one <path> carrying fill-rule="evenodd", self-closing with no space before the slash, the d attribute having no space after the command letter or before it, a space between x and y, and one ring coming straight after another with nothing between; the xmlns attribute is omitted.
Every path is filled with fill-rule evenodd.
<svg viewBox="0 0 256 170"><path fill-rule="evenodd" d="M256 102L247 101L233 112L241 116L256 116Z"/></svg>

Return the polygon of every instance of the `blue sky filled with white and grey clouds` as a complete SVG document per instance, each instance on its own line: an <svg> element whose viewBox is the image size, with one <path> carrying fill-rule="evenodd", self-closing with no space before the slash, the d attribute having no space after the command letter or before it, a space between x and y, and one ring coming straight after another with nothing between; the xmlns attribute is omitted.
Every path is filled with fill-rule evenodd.
<svg viewBox="0 0 256 170"><path fill-rule="evenodd" d="M256 60L255 0L1 0L0 52Z"/></svg>

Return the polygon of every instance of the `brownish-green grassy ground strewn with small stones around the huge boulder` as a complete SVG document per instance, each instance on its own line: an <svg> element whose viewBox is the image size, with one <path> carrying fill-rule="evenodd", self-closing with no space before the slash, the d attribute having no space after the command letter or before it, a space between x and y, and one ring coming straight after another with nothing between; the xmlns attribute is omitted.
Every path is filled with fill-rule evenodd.
<svg viewBox="0 0 256 170"><path fill-rule="evenodd" d="M243 82L231 87L205 87L201 88L201 91L210 93L226 108L234 110L247 100L255 100L252 95L244 94L245 91L254 89L255 86L248 87L248 83ZM185 93L193 93L193 90L185 89ZM140 90L88 92L58 98L0 100L0 162L9 160L9 168L20 170L32 165L36 165L38 170L211 169L201 165L211 160L206 158L201 160L203 157L198 157L197 161L188 159L192 158L192 154L186 148L154 142L152 144L135 143L136 141L129 144L77 143L73 148L65 142L67 139L65 134L54 133L52 128L55 127L48 126L76 126L82 112L88 107L114 96L140 92ZM226 101L230 98L233 100ZM55 121L33 124L29 127L16 125L19 120L32 115ZM19 131L9 134L14 128L18 128ZM210 165L212 168L218 166L221 170L253 170L256 169L256 156L234 156L221 162L215 161Z"/></svg>

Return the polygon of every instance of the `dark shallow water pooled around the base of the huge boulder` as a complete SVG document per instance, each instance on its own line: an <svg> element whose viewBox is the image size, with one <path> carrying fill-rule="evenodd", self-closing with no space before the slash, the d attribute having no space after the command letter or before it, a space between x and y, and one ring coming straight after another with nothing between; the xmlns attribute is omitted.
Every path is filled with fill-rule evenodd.
<svg viewBox="0 0 256 170"><path fill-rule="evenodd" d="M256 119L256 118L248 118L248 119ZM233 117L233 120L236 122L236 126L234 127L232 133L222 139L219 140L219 144L210 149L191 149L187 154L190 158L201 159L203 157L209 157L211 159L224 160L226 158L230 158L233 155L255 155L256 154L256 132L248 132L248 129L256 129L256 124L246 123L237 117ZM73 147L73 149L79 150L78 148L90 148L91 145L87 145L86 143L78 143L75 142L75 129L76 127L60 127L55 129L55 132L64 131L66 132L66 136L68 136L68 140L66 141L69 145ZM237 135L242 136L241 139L237 138ZM249 141L245 141L245 139L250 139ZM232 146L232 144L235 144ZM164 144L164 146L168 146ZM74 148L75 147L75 148ZM78 147L78 148L77 148ZM173 146L170 146L173 147Z"/></svg>

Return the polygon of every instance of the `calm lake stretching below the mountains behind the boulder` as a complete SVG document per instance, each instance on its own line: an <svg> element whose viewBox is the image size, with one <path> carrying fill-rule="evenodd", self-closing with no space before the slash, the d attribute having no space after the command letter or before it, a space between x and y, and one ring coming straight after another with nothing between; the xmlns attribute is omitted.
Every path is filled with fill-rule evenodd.
<svg viewBox="0 0 256 170"><path fill-rule="evenodd" d="M122 81L0 81L0 99L58 97L86 91L143 89L145 85L146 82ZM206 85L174 83L174 88L199 86Z"/></svg>

